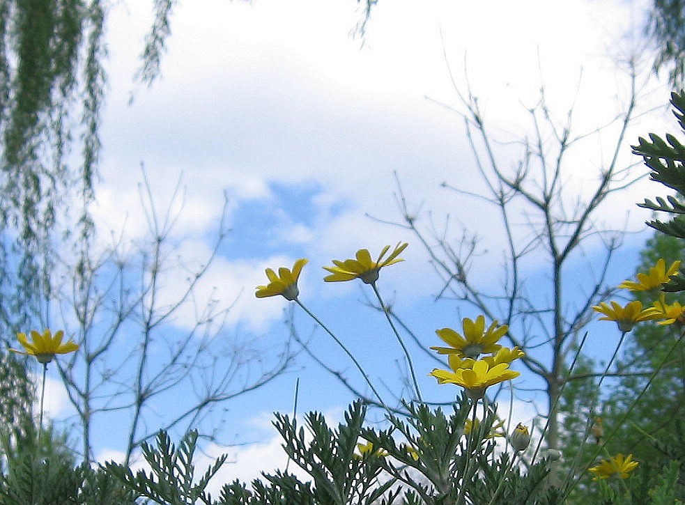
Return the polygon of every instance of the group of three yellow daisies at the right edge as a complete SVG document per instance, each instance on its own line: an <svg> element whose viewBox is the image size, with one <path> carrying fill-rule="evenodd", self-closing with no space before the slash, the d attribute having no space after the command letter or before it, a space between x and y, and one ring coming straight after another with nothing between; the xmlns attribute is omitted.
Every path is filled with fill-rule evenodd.
<svg viewBox="0 0 685 505"><path fill-rule="evenodd" d="M667 270L665 261L660 259L646 274L638 273L637 281L624 281L618 287L629 289L633 292L656 292L663 284L670 281L672 275L677 274L679 267L680 261L674 261ZM648 307L643 307L642 302L639 300L629 302L625 306L613 301L610 303L611 305L601 302L592 308L604 315L599 318L600 320L615 321L619 329L624 333L630 332L637 323L642 321L656 320L659 325L685 324L683 306L678 302L667 304L663 293L661 293L659 300L656 300Z"/></svg>

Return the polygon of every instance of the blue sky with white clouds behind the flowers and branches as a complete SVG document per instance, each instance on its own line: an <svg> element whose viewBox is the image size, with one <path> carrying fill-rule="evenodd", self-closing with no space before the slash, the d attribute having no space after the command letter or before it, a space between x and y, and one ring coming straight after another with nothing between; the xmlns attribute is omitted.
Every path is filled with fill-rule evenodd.
<svg viewBox="0 0 685 505"><path fill-rule="evenodd" d="M477 231L488 252L475 262L475 275L486 283L501 278L496 213L442 187L447 182L462 192L484 189L463 120L453 110L460 104L449 70L461 90L467 70L500 141L498 155L514 153L511 142L529 134L526 109L536 104L541 83L553 116L564 117L575 101L574 127L590 132L621 108L627 89L621 62L639 45L642 4L380 0L361 38L351 35L362 16L353 0L182 1L172 18L162 75L146 88L132 75L151 6L116 3L109 13L109 95L91 208L98 236L103 242L111 232L130 242L144 238L144 166L157 208L178 211L174 254L186 264L201 264L210 255L226 196L230 232L198 285L198 303L216 298L232 305L228 332L268 352L287 336L287 302L257 300L254 287L265 283L265 267L291 267L295 259L309 258L300 279L303 302L330 323L376 380L397 381L401 351L380 314L364 306L369 292L360 283L324 284L321 266L362 247L373 255L386 244L410 242L402 255L406 261L384 270L379 286L424 346L440 343L435 329L459 330L461 318L475 318L468 306L435 302L441 281L426 251L406 230L387 224L401 220L397 174L413 208L422 205L420 226L429 226L431 210L436 222L450 216L452 240L459 240L462 226ZM626 163L635 161L628 145L638 134L672 125L664 119L668 88L649 81L647 90L641 104L655 109L629 130L620 154ZM569 154L574 169L564 181L567 204L586 199L596 183L600 160L611 155L615 131L608 132ZM513 164L507 160L505 166ZM600 214L598 224L631 232L612 270L616 282L631 276L647 236L649 216L634 204L658 194L648 184L616 194ZM178 186L183 196L174 199ZM516 219L525 222L524 215ZM596 261L593 244L579 262ZM545 279L534 261L526 269L532 283ZM180 269L168 272L161 296L174 300L186 276ZM183 331L193 321L188 304L174 327ZM351 363L301 311L295 311L295 323L303 336L311 334L315 352L363 387ZM599 357L611 350L603 339L592 345ZM456 389L437 391L425 376L433 366L417 358L422 391L446 401ZM297 380L299 412L320 410L341 419L353 399L300 355L287 374L225 406L227 422L217 437L224 445L206 448L208 454L228 451L236 461L226 465L220 480L249 480L259 469L284 464L270 421L272 412L292 410ZM49 412L68 417L66 397L55 394L52 401ZM532 422L534 404L517 401L515 410L515 422ZM97 438L98 460L120 456L115 438Z"/></svg>

